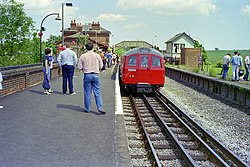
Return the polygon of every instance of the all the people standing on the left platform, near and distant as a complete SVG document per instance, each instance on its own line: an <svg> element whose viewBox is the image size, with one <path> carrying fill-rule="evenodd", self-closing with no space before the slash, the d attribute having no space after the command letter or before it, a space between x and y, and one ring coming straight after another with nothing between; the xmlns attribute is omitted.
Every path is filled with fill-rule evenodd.
<svg viewBox="0 0 250 167"><path fill-rule="evenodd" d="M73 76L75 68L77 67L83 73L83 87L84 87L84 111L90 112L91 108L91 93L94 93L96 106L101 114L105 114L103 109L103 102L100 93L100 79L99 72L104 72L106 66L111 68L116 62L118 62L118 55L110 51L95 51L93 50L93 44L87 43L87 52L82 54L78 59L76 53L70 49L70 44L66 44L66 48L60 52L57 57L59 69L62 71L62 94L66 95L67 92L70 95L75 95L73 86ZM43 88L44 94L51 94L53 91L50 87L50 70L53 68L52 50L50 48L45 49L45 55L43 58L43 73L44 81Z"/></svg>

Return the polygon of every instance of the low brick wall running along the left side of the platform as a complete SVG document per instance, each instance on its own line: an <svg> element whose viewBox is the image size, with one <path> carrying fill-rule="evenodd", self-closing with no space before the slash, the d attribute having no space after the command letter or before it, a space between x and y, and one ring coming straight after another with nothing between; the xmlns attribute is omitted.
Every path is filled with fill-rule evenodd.
<svg viewBox="0 0 250 167"><path fill-rule="evenodd" d="M58 69L58 64L54 63L51 79L60 75ZM0 97L41 84L43 81L42 65L4 70L2 74L6 79L2 82L3 89L0 90Z"/></svg>

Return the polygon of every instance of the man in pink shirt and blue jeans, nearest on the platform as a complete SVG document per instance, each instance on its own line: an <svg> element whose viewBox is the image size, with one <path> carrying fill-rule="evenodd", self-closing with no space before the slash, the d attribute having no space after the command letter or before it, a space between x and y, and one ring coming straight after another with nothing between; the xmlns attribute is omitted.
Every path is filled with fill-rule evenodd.
<svg viewBox="0 0 250 167"><path fill-rule="evenodd" d="M103 67L103 62L97 53L93 52L93 43L89 42L85 45L87 52L81 55L78 62L78 69L84 74L84 106L85 112L90 112L92 90L95 96L95 102L98 111L101 114L106 112L103 110L103 102L100 91L99 72Z"/></svg>

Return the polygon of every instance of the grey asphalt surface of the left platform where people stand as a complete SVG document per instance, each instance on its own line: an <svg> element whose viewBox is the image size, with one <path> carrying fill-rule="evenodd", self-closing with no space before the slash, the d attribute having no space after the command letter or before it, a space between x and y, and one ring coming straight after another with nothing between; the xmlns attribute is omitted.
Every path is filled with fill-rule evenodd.
<svg viewBox="0 0 250 167"><path fill-rule="evenodd" d="M1 167L113 167L120 166L124 145L116 151L115 68L100 73L105 115L96 109L83 112L83 77L75 72L76 95L62 95L62 78L51 80L53 93L44 95L41 85L0 99ZM122 132L121 132L122 133ZM126 154L124 154L126 155Z"/></svg>

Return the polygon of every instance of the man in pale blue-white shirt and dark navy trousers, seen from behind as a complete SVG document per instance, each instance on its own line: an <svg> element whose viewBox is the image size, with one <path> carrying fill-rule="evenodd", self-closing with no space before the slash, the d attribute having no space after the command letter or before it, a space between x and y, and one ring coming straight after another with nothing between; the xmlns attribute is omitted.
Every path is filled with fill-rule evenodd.
<svg viewBox="0 0 250 167"><path fill-rule="evenodd" d="M66 95L67 92L67 82L69 83L69 94L75 95L73 89L73 76L77 63L76 53L70 50L70 44L66 44L66 49L62 51L58 58L58 65L62 67L62 76L63 76L63 94Z"/></svg>

